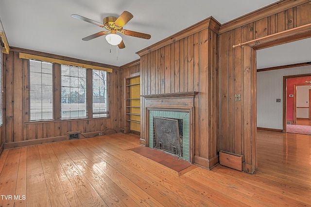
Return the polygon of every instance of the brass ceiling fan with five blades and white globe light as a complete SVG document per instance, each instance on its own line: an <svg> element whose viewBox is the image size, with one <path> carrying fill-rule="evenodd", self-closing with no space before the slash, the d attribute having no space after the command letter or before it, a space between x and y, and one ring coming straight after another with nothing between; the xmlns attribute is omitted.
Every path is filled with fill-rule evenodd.
<svg viewBox="0 0 311 207"><path fill-rule="evenodd" d="M107 16L104 17L103 23L94 21L92 19L86 18L84 16L80 15L71 15L71 17L80 19L83 21L86 21L91 24L95 24L99 27L105 28L108 31L101 31L97 32L95 34L92 34L90 36L87 36L83 38L82 40L88 41L91 39L94 39L96 37L106 35L106 40L110 45L118 45L120 49L125 48L125 45L123 43L122 37L117 34L117 32L128 35L128 36L133 36L133 37L138 37L138 38L144 38L144 39L150 39L151 35L150 34L145 34L141 32L134 32L130 30L124 30L123 26L133 18L133 15L127 11L124 11L118 18L114 16Z"/></svg>

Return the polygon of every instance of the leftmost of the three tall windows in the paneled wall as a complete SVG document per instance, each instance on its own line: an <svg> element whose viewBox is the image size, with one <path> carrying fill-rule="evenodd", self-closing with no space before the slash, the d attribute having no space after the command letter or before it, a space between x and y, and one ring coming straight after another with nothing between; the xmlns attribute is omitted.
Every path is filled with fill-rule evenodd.
<svg viewBox="0 0 311 207"><path fill-rule="evenodd" d="M53 119L53 75L51 63L29 61L30 121Z"/></svg>

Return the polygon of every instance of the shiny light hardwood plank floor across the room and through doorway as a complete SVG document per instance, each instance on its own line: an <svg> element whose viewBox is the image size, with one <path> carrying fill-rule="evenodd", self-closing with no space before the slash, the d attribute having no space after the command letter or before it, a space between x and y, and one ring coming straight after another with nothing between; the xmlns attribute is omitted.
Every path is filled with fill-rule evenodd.
<svg viewBox="0 0 311 207"><path fill-rule="evenodd" d="M178 176L128 150L138 143L115 134L4 150L0 206L311 206L310 136L259 131L254 175L218 165Z"/></svg>

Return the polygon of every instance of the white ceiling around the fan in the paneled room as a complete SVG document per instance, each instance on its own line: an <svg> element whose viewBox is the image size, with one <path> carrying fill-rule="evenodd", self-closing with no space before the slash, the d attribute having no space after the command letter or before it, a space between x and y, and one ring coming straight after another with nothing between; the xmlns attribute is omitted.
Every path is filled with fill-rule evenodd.
<svg viewBox="0 0 311 207"><path fill-rule="evenodd" d="M0 0L0 18L11 47L121 66L137 60L136 52L140 49L209 16L223 24L274 2L276 0ZM123 11L134 15L124 29L149 33L151 39L122 35L126 48L117 50L112 46L111 53L104 36L82 40L102 28L71 17L78 14L102 22L105 16L118 17Z"/></svg>

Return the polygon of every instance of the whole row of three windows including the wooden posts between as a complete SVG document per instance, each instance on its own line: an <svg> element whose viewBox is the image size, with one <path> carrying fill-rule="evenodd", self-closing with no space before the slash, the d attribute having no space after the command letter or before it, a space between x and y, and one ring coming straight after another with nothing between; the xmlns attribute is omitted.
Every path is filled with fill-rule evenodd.
<svg viewBox="0 0 311 207"><path fill-rule="evenodd" d="M28 60L27 121L109 116L107 71Z"/></svg>

